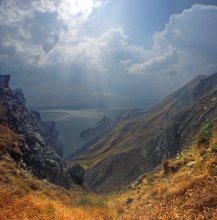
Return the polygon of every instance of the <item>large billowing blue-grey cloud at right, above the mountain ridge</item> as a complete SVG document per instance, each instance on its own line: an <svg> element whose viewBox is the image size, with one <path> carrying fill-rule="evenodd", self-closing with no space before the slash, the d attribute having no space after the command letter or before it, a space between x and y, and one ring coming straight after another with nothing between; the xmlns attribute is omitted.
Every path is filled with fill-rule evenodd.
<svg viewBox="0 0 217 220"><path fill-rule="evenodd" d="M217 70L216 21L216 6L194 5L172 15L165 29L154 35L155 56L127 70L170 76L175 71L188 78L213 73Z"/></svg>

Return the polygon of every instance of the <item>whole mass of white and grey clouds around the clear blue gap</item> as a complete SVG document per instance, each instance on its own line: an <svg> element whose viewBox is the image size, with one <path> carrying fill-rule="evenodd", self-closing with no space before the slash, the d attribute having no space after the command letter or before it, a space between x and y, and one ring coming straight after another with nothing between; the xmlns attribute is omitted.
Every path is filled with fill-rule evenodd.
<svg viewBox="0 0 217 220"><path fill-rule="evenodd" d="M31 71L26 70L26 75L35 75L38 82L42 75L54 74L58 80L50 77L49 83L55 89L45 83L38 92L62 94L62 101L66 92L79 100L87 93L119 101L133 100L135 94L141 99L150 90L163 96L196 74L217 71L216 6L195 5L171 16L165 29L153 36L153 47L146 49L134 45L116 24L98 35L84 31L105 0L2 1L0 64L12 72L27 66Z"/></svg>

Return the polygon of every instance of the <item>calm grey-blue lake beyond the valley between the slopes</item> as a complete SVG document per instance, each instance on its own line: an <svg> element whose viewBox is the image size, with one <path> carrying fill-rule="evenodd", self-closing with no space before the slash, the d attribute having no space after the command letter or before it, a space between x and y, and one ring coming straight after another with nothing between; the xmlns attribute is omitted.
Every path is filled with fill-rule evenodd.
<svg viewBox="0 0 217 220"><path fill-rule="evenodd" d="M80 132L96 126L103 118L115 117L126 109L37 109L44 121L55 121L59 139L64 145L64 157L83 146L86 141L80 138Z"/></svg>

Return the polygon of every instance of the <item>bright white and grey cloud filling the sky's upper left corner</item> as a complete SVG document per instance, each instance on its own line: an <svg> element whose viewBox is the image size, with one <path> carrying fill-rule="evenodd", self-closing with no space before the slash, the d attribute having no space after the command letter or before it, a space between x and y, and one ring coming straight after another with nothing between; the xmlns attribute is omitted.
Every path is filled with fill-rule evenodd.
<svg viewBox="0 0 217 220"><path fill-rule="evenodd" d="M44 65L46 54L64 39L80 38L79 31L100 6L101 0L2 0L0 46L13 48L28 63Z"/></svg>

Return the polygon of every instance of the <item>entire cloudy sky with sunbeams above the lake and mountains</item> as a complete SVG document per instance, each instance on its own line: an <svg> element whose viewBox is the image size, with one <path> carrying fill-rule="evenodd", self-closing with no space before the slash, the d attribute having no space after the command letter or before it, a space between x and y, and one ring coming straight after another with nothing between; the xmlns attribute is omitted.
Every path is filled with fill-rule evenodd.
<svg viewBox="0 0 217 220"><path fill-rule="evenodd" d="M217 72L217 0L1 0L0 74L28 106L145 108Z"/></svg>

